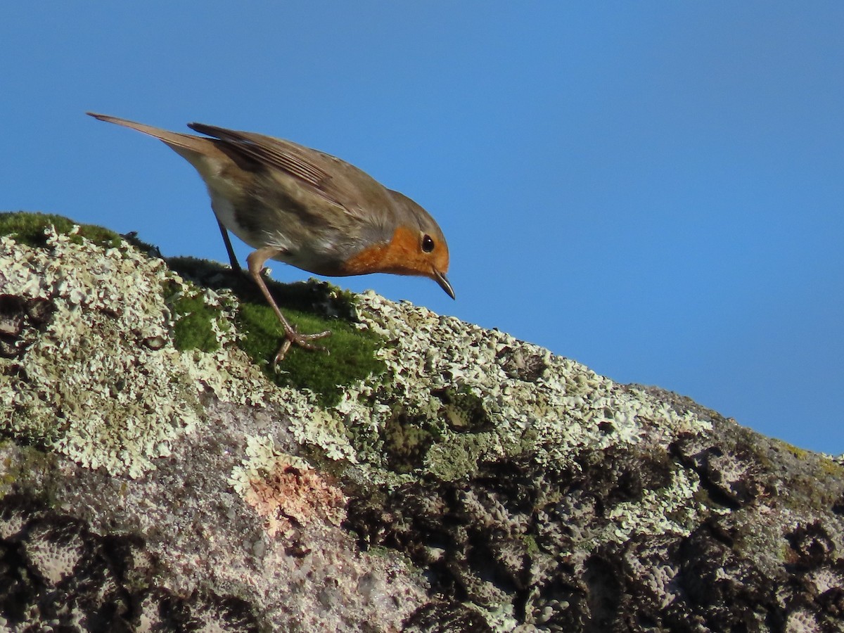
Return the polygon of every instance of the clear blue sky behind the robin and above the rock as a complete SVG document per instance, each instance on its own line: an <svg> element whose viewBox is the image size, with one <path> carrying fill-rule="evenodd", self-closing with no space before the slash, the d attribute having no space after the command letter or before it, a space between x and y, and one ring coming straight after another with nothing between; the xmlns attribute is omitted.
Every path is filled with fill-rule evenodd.
<svg viewBox="0 0 844 633"><path fill-rule="evenodd" d="M344 286L844 452L844 4L135 6L0 9L0 208L225 261L192 167L84 111L289 138L425 206L457 301Z"/></svg>

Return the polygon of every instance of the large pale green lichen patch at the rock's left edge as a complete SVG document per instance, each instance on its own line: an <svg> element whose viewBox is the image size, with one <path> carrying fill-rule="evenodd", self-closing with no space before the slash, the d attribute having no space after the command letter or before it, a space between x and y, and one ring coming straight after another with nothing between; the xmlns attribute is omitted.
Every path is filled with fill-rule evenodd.
<svg viewBox="0 0 844 633"><path fill-rule="evenodd" d="M251 364L230 345L236 334L219 319L212 331L224 347L213 361L175 348L165 286L201 298L219 319L233 309L125 242L104 248L51 227L43 246L0 237L3 294L56 307L24 354L0 359L0 430L138 477L200 424L208 386L233 401L262 399Z"/></svg>

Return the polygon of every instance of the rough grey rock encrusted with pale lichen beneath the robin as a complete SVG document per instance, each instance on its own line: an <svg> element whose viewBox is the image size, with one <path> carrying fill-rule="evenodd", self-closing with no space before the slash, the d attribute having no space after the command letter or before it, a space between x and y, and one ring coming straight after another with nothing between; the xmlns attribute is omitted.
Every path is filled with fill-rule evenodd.
<svg viewBox="0 0 844 633"><path fill-rule="evenodd" d="M829 457L374 294L323 407L77 237L0 238L0 629L844 630Z"/></svg>

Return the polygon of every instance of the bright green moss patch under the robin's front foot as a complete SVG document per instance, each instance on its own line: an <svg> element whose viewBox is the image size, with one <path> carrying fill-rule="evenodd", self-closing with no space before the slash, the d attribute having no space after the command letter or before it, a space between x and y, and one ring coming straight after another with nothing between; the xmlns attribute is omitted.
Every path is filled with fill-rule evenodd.
<svg viewBox="0 0 844 633"><path fill-rule="evenodd" d="M273 357L284 337L279 319L266 304L241 303L237 324L246 335L239 342L241 349L277 384L310 389L324 406L331 406L339 402L344 387L385 370L383 362L376 358L376 350L382 344L380 338L338 318L317 317L289 308L284 308L284 316L301 333L330 330L331 336L317 341L327 352L293 346L273 369Z"/></svg>

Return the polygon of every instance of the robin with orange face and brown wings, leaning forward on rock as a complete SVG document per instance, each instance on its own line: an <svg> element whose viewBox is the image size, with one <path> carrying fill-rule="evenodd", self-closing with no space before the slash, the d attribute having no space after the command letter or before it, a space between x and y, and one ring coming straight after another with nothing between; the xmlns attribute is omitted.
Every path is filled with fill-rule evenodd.
<svg viewBox="0 0 844 633"><path fill-rule="evenodd" d="M264 264L277 260L325 276L393 273L436 281L455 299L448 245L436 220L409 197L392 191L331 154L281 138L188 123L194 134L170 132L116 116L100 121L149 134L202 176L231 268L241 271L229 232L251 246L249 275L284 328L276 366L291 345L314 343L330 331L305 334L284 317L264 283Z"/></svg>

